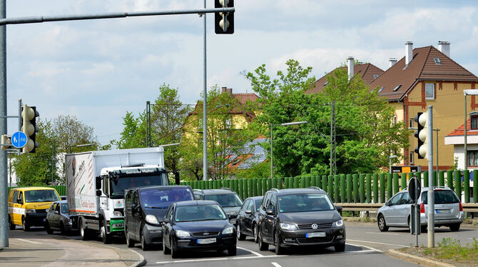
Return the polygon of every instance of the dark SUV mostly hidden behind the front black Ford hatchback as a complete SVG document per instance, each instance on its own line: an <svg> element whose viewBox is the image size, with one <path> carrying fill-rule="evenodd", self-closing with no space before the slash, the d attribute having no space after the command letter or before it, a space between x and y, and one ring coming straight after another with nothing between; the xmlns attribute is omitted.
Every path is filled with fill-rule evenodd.
<svg viewBox="0 0 478 267"><path fill-rule="evenodd" d="M243 200L240 198L238 193L235 193L233 189L230 188L220 188L220 189L194 189L194 199L196 200L212 200L219 203L225 213L232 217L230 223L235 225L235 217L237 216L240 210L240 207L243 206Z"/></svg>

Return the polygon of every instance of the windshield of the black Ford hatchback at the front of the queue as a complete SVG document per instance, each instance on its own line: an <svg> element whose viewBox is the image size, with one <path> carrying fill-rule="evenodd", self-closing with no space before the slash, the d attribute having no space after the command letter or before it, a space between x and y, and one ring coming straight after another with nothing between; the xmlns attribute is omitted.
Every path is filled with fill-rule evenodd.
<svg viewBox="0 0 478 267"><path fill-rule="evenodd" d="M225 220L225 218L223 209L216 204L176 207L176 222L217 221Z"/></svg>

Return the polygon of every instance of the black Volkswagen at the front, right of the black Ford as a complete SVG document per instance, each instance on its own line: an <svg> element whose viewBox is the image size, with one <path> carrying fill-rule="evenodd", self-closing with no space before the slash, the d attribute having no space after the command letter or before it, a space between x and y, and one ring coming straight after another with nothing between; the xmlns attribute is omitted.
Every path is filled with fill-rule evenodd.
<svg viewBox="0 0 478 267"><path fill-rule="evenodd" d="M261 251L275 246L281 254L290 246L334 246L345 251L342 207L334 206L318 187L271 189L259 208L258 243Z"/></svg>

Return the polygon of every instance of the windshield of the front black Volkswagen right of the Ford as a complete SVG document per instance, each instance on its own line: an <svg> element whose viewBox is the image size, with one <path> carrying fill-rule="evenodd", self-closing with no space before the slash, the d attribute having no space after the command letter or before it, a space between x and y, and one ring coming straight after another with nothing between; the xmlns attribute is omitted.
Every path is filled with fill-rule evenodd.
<svg viewBox="0 0 478 267"><path fill-rule="evenodd" d="M325 194L307 193L279 196L280 212L332 211L334 206Z"/></svg>

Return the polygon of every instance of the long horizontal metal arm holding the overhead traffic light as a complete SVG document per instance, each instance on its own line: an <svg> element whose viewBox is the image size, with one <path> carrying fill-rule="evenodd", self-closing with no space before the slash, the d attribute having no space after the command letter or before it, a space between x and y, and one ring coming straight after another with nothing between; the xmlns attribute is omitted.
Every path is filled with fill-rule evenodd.
<svg viewBox="0 0 478 267"><path fill-rule="evenodd" d="M79 14L63 16L26 16L18 18L0 19L0 25L7 24L31 24L49 21L79 21L86 19L116 19L126 18L127 16L162 16L162 15L180 15L180 14L205 14L218 12L234 12L235 8L226 7L220 9L186 9L169 11L141 11L141 12L114 12L103 14Z"/></svg>

